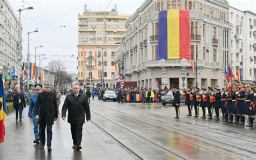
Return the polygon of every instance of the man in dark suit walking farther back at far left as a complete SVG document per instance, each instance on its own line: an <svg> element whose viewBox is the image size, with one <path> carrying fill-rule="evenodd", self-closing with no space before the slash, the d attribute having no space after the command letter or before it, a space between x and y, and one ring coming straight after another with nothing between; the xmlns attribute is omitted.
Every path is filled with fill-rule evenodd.
<svg viewBox="0 0 256 160"><path fill-rule="evenodd" d="M23 107L26 108L26 101L24 95L21 93L21 89L18 88L17 92L14 95L14 100L12 102L16 110L16 121L18 120L18 113L19 113L19 121L22 121L22 110Z"/></svg>

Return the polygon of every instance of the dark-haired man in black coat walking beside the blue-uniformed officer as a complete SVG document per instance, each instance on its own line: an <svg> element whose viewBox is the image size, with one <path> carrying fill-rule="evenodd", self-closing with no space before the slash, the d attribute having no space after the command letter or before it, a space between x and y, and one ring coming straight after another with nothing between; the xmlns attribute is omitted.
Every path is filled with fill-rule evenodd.
<svg viewBox="0 0 256 160"><path fill-rule="evenodd" d="M56 94L50 92L50 85L44 86L44 91L37 96L35 106L35 118L39 120L39 134L41 137L41 149L45 145L45 128L47 131L47 147L51 151L52 125L58 118L58 107ZM40 109L39 109L40 108Z"/></svg>

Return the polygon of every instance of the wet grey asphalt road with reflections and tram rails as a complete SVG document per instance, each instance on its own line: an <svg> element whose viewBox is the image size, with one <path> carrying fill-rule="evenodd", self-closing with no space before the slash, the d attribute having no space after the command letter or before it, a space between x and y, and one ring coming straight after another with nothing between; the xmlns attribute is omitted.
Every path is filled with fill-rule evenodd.
<svg viewBox="0 0 256 160"><path fill-rule="evenodd" d="M64 96L62 97L64 102ZM187 117L173 119L171 105L91 100L92 122L83 127L82 150L72 149L70 125L58 119L53 126L52 152L33 145L33 123L23 112L6 121L0 159L242 159L256 157L253 128ZM61 109L61 108L60 108ZM201 109L201 108L199 108ZM201 116L201 110L199 117ZM255 123L254 123L255 124Z"/></svg>

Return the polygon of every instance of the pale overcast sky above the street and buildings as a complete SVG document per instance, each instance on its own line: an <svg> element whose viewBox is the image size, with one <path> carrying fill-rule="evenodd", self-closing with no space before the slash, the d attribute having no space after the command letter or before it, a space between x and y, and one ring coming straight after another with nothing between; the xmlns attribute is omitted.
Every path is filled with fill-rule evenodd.
<svg viewBox="0 0 256 160"><path fill-rule="evenodd" d="M33 6L33 10L22 11L23 24L23 60L26 60L28 34L38 29L38 33L30 34L31 61L35 61L35 47L38 54L45 54L43 66L51 60L61 60L70 73L77 73L77 16L84 11L84 4L91 11L111 10L114 4L118 5L120 15L131 15L144 2L144 0L9 0L15 12L19 8ZM240 10L256 12L256 2L246 0L229 0L231 6ZM107 8L107 6L109 7ZM16 12L18 13L18 12ZM17 14L18 15L18 14ZM66 27L60 27L66 26ZM71 57L71 55L74 55ZM38 62L38 58L37 58Z"/></svg>

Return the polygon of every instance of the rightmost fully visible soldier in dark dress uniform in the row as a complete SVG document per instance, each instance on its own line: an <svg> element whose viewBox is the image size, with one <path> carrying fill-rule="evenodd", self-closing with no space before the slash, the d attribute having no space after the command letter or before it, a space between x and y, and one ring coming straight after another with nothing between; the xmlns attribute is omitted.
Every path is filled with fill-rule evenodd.
<svg viewBox="0 0 256 160"><path fill-rule="evenodd" d="M253 127L254 91L250 84L248 84L246 88L247 88L247 93L245 96L245 115L248 115L249 117L249 124L246 125L246 127Z"/></svg>

